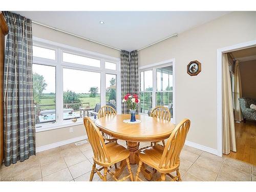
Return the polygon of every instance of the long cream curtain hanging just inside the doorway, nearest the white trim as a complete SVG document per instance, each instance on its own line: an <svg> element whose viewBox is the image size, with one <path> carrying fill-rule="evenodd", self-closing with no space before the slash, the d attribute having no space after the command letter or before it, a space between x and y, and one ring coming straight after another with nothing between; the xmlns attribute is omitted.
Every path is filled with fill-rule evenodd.
<svg viewBox="0 0 256 192"><path fill-rule="evenodd" d="M230 150L237 151L236 134L234 130L234 115L232 106L231 80L229 75L227 54L222 56L222 119L223 119L223 153L229 154Z"/></svg>

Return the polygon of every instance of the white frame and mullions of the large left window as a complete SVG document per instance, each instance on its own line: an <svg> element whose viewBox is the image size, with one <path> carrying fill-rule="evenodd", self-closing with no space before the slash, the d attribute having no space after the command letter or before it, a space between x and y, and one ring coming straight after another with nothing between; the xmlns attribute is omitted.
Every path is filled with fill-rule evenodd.
<svg viewBox="0 0 256 192"><path fill-rule="evenodd" d="M113 74L116 75L116 92L121 92L121 78L120 78L120 58L111 57L108 55L103 55L95 52L91 52L88 50L59 44L58 42L38 38L33 36L33 45L55 50L55 60L41 58L41 57L33 57L32 63L38 65L46 65L46 66L54 66L55 67L55 94L56 94L56 121L55 123L49 124L36 124L36 132L60 129L62 127L74 126L83 124L82 118L78 119L77 122L65 122L63 120L63 69L74 69L74 70L82 70L82 71L91 71L100 73L100 102L101 106L105 105L105 74ZM100 60L100 67L92 67L86 65L80 65L77 63L71 62L63 62L62 53L71 53L75 55L80 55L84 57L94 58ZM116 70L110 70L104 68L105 61L116 63ZM117 103L117 113L121 113L121 94L117 94L116 97Z"/></svg>

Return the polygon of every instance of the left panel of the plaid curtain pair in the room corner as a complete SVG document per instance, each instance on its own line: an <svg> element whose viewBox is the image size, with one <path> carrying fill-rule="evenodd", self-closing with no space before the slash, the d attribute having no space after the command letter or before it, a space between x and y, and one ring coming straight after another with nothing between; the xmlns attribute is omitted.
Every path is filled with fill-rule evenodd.
<svg viewBox="0 0 256 192"><path fill-rule="evenodd" d="M125 94L130 91L130 53L128 51L121 51L120 61L121 61L121 93L122 98ZM127 114L128 109L125 102L122 103L122 114Z"/></svg>

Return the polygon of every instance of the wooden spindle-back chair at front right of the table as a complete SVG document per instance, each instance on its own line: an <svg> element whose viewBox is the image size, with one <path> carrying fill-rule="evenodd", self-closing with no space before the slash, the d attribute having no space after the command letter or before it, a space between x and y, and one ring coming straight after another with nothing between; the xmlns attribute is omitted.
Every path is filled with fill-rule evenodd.
<svg viewBox="0 0 256 192"><path fill-rule="evenodd" d="M140 169L143 163L153 167L161 173L158 181L165 181L165 176L168 175L172 181L181 181L179 166L180 153L184 146L185 139L190 127L190 120L182 120L174 129L168 138L166 145L155 145L147 148L139 153L139 166L137 169L135 181L142 181L139 178ZM175 172L177 176L172 176L170 173Z"/></svg>

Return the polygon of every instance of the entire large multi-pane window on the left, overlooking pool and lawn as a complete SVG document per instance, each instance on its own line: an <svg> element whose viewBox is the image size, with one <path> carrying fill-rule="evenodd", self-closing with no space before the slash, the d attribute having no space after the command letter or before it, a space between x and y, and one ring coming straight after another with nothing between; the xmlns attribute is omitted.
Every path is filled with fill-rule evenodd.
<svg viewBox="0 0 256 192"><path fill-rule="evenodd" d="M33 44L36 132L82 124L105 104L120 113L119 58L36 37Z"/></svg>

